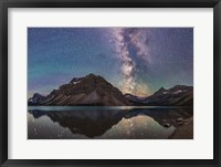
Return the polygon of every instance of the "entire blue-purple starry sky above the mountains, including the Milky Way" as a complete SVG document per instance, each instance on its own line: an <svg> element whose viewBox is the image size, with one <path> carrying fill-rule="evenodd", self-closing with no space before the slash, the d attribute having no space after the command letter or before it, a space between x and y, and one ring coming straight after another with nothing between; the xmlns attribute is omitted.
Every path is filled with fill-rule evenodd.
<svg viewBox="0 0 221 167"><path fill-rule="evenodd" d="M137 96L192 86L193 29L28 28L29 97L90 73Z"/></svg>

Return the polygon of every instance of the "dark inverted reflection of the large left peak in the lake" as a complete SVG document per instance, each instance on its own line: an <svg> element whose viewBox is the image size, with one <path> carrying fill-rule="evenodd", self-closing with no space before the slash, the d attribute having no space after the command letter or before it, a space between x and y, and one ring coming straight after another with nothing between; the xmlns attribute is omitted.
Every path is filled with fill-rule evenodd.
<svg viewBox="0 0 221 167"><path fill-rule="evenodd" d="M104 134L124 116L116 111L29 111L34 118L46 115L53 122L67 127L73 134L95 137Z"/></svg>

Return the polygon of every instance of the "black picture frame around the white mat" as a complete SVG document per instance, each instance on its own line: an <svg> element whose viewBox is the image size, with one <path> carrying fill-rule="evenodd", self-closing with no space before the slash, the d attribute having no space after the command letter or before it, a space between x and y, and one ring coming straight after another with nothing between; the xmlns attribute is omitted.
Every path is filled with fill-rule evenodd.
<svg viewBox="0 0 221 167"><path fill-rule="evenodd" d="M9 8L213 8L213 159L8 159L8 9ZM221 2L220 0L1 0L0 2L0 165L23 166L182 166L214 167L220 163ZM21 150L22 152L22 150ZM207 152L207 150L199 150Z"/></svg>

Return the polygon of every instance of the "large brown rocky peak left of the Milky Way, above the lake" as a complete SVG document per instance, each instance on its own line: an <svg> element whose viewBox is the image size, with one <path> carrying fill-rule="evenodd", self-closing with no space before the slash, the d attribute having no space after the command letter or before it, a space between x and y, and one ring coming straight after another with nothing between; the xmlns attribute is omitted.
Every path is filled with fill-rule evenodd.
<svg viewBox="0 0 221 167"><path fill-rule="evenodd" d="M130 105L123 93L99 75L74 77L70 83L53 90L42 105Z"/></svg>

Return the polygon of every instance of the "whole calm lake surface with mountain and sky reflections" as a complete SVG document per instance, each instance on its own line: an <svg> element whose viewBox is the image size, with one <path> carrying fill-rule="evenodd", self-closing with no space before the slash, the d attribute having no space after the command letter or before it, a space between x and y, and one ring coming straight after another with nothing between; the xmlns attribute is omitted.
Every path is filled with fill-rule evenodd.
<svg viewBox="0 0 221 167"><path fill-rule="evenodd" d="M28 139L166 139L187 131L180 127L192 114L192 107L29 106Z"/></svg>

